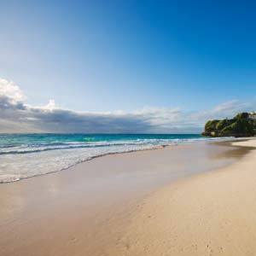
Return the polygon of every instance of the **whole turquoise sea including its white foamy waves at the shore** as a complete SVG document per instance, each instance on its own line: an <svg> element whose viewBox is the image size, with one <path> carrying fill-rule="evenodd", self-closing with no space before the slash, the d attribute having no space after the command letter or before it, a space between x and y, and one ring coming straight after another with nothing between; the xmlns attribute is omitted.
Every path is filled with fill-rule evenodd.
<svg viewBox="0 0 256 256"><path fill-rule="evenodd" d="M0 134L0 183L61 171L106 154L224 139L198 134Z"/></svg>

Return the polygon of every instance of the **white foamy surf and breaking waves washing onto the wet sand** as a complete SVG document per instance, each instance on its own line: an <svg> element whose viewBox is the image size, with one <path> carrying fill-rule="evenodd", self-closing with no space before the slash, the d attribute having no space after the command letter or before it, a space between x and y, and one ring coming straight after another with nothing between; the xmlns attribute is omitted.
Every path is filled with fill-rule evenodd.
<svg viewBox="0 0 256 256"><path fill-rule="evenodd" d="M226 138L137 139L134 141L60 143L60 145L48 144L38 147L0 148L0 183L61 171L79 162L106 154L159 148L178 143L200 143L224 139Z"/></svg>

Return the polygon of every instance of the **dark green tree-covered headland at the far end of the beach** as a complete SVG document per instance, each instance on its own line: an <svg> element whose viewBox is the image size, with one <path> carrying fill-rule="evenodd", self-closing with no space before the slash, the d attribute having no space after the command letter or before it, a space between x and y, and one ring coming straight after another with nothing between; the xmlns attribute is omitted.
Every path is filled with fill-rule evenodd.
<svg viewBox="0 0 256 256"><path fill-rule="evenodd" d="M209 120L201 134L206 137L256 136L256 113L238 113L233 119Z"/></svg>

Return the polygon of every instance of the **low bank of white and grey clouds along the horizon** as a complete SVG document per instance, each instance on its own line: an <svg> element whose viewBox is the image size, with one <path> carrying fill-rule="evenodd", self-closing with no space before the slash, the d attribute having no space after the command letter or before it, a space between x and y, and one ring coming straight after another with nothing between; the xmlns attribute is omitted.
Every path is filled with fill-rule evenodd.
<svg viewBox="0 0 256 256"><path fill-rule="evenodd" d="M0 79L0 132L55 133L199 133L207 119L232 117L256 109L256 102L224 102L198 113L180 108L143 108L125 112L75 112L26 104L26 96L12 81Z"/></svg>

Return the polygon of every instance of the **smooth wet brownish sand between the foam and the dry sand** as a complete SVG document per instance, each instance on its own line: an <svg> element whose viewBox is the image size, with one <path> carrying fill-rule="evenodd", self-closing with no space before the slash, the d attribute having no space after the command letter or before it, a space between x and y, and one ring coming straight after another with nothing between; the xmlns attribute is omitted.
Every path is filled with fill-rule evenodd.
<svg viewBox="0 0 256 256"><path fill-rule="evenodd" d="M249 149L197 143L114 154L0 184L0 255L146 255L127 254L124 240L142 224L135 215L140 219L144 198L183 177L229 166Z"/></svg>

